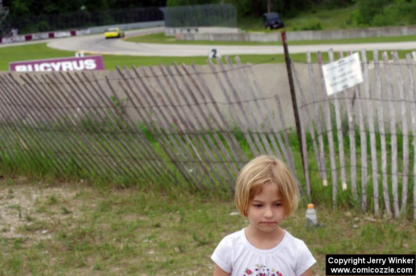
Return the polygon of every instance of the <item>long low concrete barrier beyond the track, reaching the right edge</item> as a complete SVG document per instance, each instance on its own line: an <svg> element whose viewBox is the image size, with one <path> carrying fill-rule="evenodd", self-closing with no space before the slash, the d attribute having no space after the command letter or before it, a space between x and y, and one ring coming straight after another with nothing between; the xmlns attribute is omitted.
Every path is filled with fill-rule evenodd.
<svg viewBox="0 0 416 276"><path fill-rule="evenodd" d="M289 41L300 40L335 40L368 37L393 37L416 35L415 26L373 27L364 29L347 29L334 31L288 31L286 37ZM280 33L181 33L180 40L208 40L208 41L252 41L277 42L281 41Z"/></svg>

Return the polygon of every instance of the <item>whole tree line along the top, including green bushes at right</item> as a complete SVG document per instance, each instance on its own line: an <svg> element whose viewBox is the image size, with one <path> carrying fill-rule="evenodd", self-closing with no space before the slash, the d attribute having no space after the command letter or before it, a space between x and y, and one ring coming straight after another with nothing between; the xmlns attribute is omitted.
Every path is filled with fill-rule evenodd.
<svg viewBox="0 0 416 276"><path fill-rule="evenodd" d="M9 21L33 19L37 16L99 14L121 9L230 3L238 17L260 17L268 10L277 11L283 18L317 8L332 9L355 5L350 19L358 26L409 25L416 23L416 0L2 0L10 9ZM108 17L102 15L103 18ZM58 20L59 21L59 20ZM36 22L33 22L37 24ZM91 24L93 24L92 22ZM4 29L4 22L3 26ZM50 23L44 22L44 25ZM28 26L42 31L38 26ZM31 30L33 31L33 30ZM1 32L1 30L0 30Z"/></svg>

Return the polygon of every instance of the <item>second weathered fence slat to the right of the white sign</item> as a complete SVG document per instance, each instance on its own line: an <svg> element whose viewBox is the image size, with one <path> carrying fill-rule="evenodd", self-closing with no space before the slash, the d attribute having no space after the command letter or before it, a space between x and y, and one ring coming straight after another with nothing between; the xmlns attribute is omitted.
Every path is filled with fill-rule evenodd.
<svg viewBox="0 0 416 276"><path fill-rule="evenodd" d="M392 214L392 209L390 207L390 195L388 187L388 175L387 175L387 149L386 149L386 131L384 129L384 119L383 119L383 105L381 98L381 79L380 79L380 64L378 60L378 51L373 52L373 62L374 62L374 71L375 71L375 85L376 85L376 97L377 97L377 117L378 117L378 127L380 132L380 144L381 144L381 172L383 175L383 197L384 204L386 208L386 213L388 215Z"/></svg>

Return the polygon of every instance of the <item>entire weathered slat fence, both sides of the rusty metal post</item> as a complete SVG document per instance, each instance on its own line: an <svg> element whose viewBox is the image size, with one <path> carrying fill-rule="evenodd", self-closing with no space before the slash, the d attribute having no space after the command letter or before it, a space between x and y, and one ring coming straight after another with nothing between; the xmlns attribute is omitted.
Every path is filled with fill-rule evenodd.
<svg viewBox="0 0 416 276"><path fill-rule="evenodd" d="M333 61L334 53L328 55ZM284 66L263 64L259 71L238 57L208 61L205 69L0 74L0 162L59 175L232 190L248 160L273 154L308 197L323 185L334 207L350 195L364 211L416 218L416 53L399 61L393 52L392 62L387 53L379 60L377 51L368 61L362 51L361 59L364 82L331 96L321 53L317 63L310 53L307 63L292 63L303 171L287 121L293 110L282 104L284 72L272 71L282 78L273 81L259 73ZM280 87L267 91L266 82ZM311 183L317 177L322 184Z"/></svg>

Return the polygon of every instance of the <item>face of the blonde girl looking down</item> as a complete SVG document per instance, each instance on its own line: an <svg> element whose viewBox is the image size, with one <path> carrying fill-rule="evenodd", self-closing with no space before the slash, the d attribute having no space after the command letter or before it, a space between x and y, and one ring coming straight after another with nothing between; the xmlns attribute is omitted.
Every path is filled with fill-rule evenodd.
<svg viewBox="0 0 416 276"><path fill-rule="evenodd" d="M285 216L286 209L273 183L264 184L263 190L254 196L247 209L250 225L263 232L278 230Z"/></svg>

